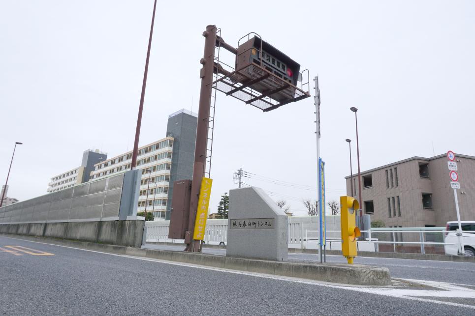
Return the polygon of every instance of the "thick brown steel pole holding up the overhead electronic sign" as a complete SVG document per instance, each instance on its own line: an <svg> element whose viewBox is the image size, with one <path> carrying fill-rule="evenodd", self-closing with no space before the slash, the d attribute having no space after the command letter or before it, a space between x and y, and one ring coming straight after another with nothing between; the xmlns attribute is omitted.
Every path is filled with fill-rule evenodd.
<svg viewBox="0 0 475 316"><path fill-rule="evenodd" d="M198 252L199 240L193 240L194 221L198 209L198 197L201 186L201 178L204 176L206 164L206 145L208 142L208 121L211 105L211 88L213 84L213 69L216 45L216 26L208 25L203 32L205 37L204 54L200 63L203 65L200 71L201 88L198 106L198 126L196 127L196 144L194 148L193 179L191 181L190 217L188 221L189 243L185 251Z"/></svg>

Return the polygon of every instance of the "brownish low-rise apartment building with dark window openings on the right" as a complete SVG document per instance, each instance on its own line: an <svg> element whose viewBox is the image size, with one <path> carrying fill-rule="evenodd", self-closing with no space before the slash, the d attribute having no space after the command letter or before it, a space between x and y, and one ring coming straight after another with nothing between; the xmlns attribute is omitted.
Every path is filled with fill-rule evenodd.
<svg viewBox="0 0 475 316"><path fill-rule="evenodd" d="M461 220L475 220L475 157L456 154ZM346 176L351 196L350 176ZM446 155L412 157L361 172L360 206L371 220L386 227L444 227L457 220ZM353 196L358 198L358 175L353 174Z"/></svg>

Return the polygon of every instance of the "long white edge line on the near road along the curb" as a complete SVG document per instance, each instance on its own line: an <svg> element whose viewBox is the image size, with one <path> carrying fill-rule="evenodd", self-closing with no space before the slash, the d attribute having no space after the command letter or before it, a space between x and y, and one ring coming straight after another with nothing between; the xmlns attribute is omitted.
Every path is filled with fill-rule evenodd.
<svg viewBox="0 0 475 316"><path fill-rule="evenodd" d="M144 260L144 261L152 261L152 262L160 262L160 263L171 264L171 265L176 265L176 266L183 266L183 267L190 267L190 268L196 268L196 269L202 269L202 270L211 270L211 271L219 271L219 272L225 272L225 273L253 276L253 277L256 277L256 278L263 278L263 279L272 279L272 280L278 280L278 281L286 281L286 282L294 282L294 283L315 285L315 286L319 286L319 287L330 287L330 288L345 289L345 290L350 290L350 291L355 291L355 292L370 293L370 294L375 294L375 295L389 296L389 297L394 297L394 298L402 298L402 299L408 299L408 300L426 302L426 303L435 303L435 304L441 304L441 305L463 307L463 308L468 308L468 309L475 310L474 305L466 305L466 304L452 303L452 302L446 302L446 301L438 301L438 300L434 300L434 299L412 297L412 296L437 296L437 294L440 294L442 292L442 291L437 291L437 290L436 291L408 290L406 292L401 292L401 291L397 291L397 290L392 289L392 288L384 288L384 287L373 287L372 288L372 287L342 286L342 285L335 285L335 284L331 284L331 283L319 283L317 281L305 281L305 280L296 279L296 278L276 277L276 276L273 276L273 275L263 274L263 273L243 272L243 271L229 270L229 269L223 269L223 268L200 266L200 265L195 265L195 264L190 264L190 263L177 263L177 262L160 260L160 259L150 259L150 258L143 258L143 257L133 257L133 256L128 256L128 255L111 254L111 253L106 253L106 252L101 252L101 251L81 249L81 248L63 246L63 245L56 245L56 244L49 244L49 243L45 243L45 242L32 241L32 240L21 239L21 238L13 238L13 237L5 237L5 236L1 236L1 237L23 240L23 241L28 241L28 242L38 243L38 244L45 244L45 245L50 245L50 246L58 246L58 247L63 247L63 248L88 251L88 252L93 252L93 253L98 253L98 254L103 254L103 255L110 255L110 256L123 257L123 258L136 259L136 260ZM420 280L414 280L414 281L419 282ZM427 282L432 282L432 281L427 281ZM466 289L466 290L470 290L470 289ZM417 291L421 291L421 292L417 292ZM424 292L431 292L432 294L436 294L436 295L419 295L419 293L423 294ZM410 295L412 295L412 296L410 296ZM444 297L452 297L452 296L444 296ZM460 296L457 296L457 297L460 297Z"/></svg>

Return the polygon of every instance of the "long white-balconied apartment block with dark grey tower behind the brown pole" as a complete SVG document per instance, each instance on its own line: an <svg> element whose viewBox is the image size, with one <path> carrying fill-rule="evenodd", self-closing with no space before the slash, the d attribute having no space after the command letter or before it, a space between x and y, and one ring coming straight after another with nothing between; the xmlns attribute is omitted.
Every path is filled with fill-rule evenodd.
<svg viewBox="0 0 475 316"><path fill-rule="evenodd" d="M139 147L137 169L142 170L137 212L153 212L165 220L171 210L173 181L191 179L198 115L180 110L168 116L166 137ZM90 172L92 180L130 169L132 151L101 161ZM168 215L169 218L169 215Z"/></svg>

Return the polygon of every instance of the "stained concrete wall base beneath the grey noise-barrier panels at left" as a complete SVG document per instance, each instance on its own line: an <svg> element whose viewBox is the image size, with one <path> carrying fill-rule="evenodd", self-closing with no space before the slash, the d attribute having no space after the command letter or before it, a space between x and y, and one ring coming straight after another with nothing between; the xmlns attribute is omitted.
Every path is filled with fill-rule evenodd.
<svg viewBox="0 0 475 316"><path fill-rule="evenodd" d="M97 221L3 224L0 233L90 241L110 245L140 247L143 221Z"/></svg>

